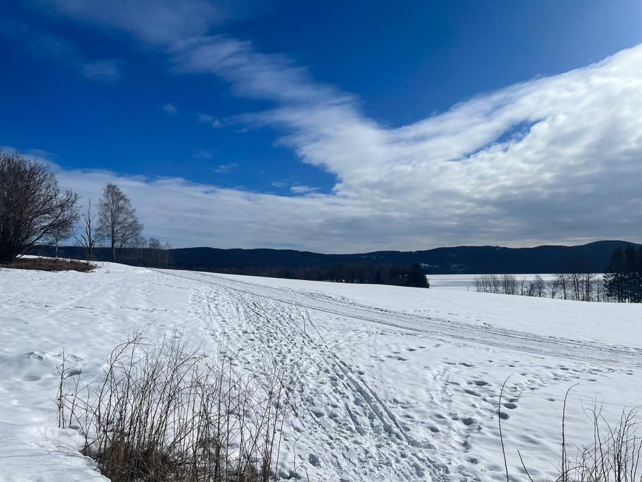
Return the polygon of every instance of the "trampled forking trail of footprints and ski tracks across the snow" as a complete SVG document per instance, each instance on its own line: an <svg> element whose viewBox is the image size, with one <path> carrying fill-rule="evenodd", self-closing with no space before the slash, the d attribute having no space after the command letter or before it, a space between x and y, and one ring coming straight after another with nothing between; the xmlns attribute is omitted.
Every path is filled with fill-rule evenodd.
<svg viewBox="0 0 642 482"><path fill-rule="evenodd" d="M261 286L209 273L164 271L164 274L203 284L203 288L196 290L191 304L207 306L209 313L205 316L212 320L213 325L221 317L222 306L227 307L224 311L228 315L233 313L229 322L224 323L224 329L215 336L244 340L240 350L241 353L251 352L245 355L248 366L261 363L257 356L260 353L271 353L275 359L290 366L296 366L297 361L300 363L296 369L300 370L298 376L302 383L296 391L292 430L284 433L285 444L298 444L300 449L309 454L307 461L311 461L311 465L322 463L333 467L341 481L485 480L480 473L470 470L471 466L478 464L478 459L467 453L471 448L471 438L482 430L480 421L492 420L496 416L498 393L496 386L491 387L484 381L471 381L470 386L458 386L460 383L450 381L450 378L454 375L465 377L471 365L446 362L433 370L431 381L431 386L435 387L431 392L434 405L446 408L439 411L431 422L431 440L415 438L410 434L407 424L400 422L395 414L401 404L393 400L389 406L389 402L379 396L376 386L367 381L363 371L351 367L349 362L337 355L317 329L314 321L317 315L333 315L361 326L367 322L384 331L402 330L422 340L430 340L433 344L475 344L486 350L499 348L512 353L513 357L515 353L524 352L535 354L540 359L555 357L571 364L579 362L602 367L589 368L593 375L602 370L621 370L623 366L641 366L642 351L638 348L598 342L580 343L564 338L492 329L485 325L465 325L434 316L373 309L335 296ZM225 319L225 316L222 318ZM231 331L235 331L235 334L231 335ZM347 342L343 340L342 343ZM437 343L435 346L441 345ZM519 368L519 359L513 362L506 366ZM573 370L560 367L561 372L552 377L554 381L571 383L578 378L572 375ZM524 392L545 388L550 383L546 376L527 372L522 375L526 379L515 383L506 394L506 400L510 401L504 403L504 412L514 409ZM472 410L465 416L458 414L457 407L448 407L448 401L456 396L458 390L474 400ZM505 413L502 414L504 416ZM370 443L362 444L361 440ZM450 450L444 451L445 446ZM337 456L337 448L340 456ZM305 460L303 462L305 464ZM290 464L281 471L281 475L304 477L303 472L295 474L293 467Z"/></svg>

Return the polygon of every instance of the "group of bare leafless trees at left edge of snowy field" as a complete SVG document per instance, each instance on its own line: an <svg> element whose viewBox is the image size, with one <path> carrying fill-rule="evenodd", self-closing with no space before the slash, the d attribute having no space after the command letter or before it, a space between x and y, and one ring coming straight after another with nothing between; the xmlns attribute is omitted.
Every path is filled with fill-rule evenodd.
<svg viewBox="0 0 642 482"><path fill-rule="evenodd" d="M57 257L60 244L73 239L88 261L104 243L114 262L123 249L137 247L149 249L157 266L167 266L170 246L142 236L131 199L118 186L107 183L97 207L90 198L81 210L79 201L44 164L0 152L0 263L43 245L54 246Z"/></svg>

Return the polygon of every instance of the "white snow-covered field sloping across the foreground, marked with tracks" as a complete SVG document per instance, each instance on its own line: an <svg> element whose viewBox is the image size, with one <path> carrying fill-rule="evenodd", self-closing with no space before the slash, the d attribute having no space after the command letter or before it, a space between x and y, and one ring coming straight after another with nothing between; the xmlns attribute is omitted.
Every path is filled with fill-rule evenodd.
<svg viewBox="0 0 642 482"><path fill-rule="evenodd" d="M504 480L497 404L509 375L502 429L515 475L517 450L532 477L554 471L571 385L571 443L592 440L584 408L603 403L615 420L642 401L640 305L109 263L0 269L0 480L105 480L77 435L55 428L62 350L97 375L134 327L175 325L238 346L239 370L266 354L300 370L283 468L296 453L313 482Z"/></svg>

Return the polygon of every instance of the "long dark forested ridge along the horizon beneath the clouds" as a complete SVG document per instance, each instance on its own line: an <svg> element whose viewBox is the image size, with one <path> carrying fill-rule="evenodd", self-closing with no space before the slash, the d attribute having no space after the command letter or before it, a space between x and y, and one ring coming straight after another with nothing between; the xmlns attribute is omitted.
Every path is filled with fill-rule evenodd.
<svg viewBox="0 0 642 482"><path fill-rule="evenodd" d="M616 248L628 242L598 241L580 246L537 246L502 248L499 246L457 246L426 251L375 251L346 255L327 255L285 249L171 249L170 268L186 270L222 270L227 272L266 272L301 267L326 268L336 264L421 264L427 274L533 273L533 272L602 272ZM639 244L636 244L639 246ZM52 255L52 248L39 248L34 254ZM61 247L59 255L83 257L74 246ZM98 250L96 259L109 261L109 249ZM140 264L140 250L124 249L120 261ZM146 264L146 263L145 263Z"/></svg>

